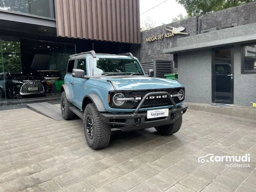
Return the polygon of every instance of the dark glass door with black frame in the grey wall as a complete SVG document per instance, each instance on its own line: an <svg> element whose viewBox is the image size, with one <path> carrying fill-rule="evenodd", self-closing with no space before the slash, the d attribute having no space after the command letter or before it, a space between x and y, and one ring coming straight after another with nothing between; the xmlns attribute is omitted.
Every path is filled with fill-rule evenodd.
<svg viewBox="0 0 256 192"><path fill-rule="evenodd" d="M233 47L213 49L213 103L234 103Z"/></svg>

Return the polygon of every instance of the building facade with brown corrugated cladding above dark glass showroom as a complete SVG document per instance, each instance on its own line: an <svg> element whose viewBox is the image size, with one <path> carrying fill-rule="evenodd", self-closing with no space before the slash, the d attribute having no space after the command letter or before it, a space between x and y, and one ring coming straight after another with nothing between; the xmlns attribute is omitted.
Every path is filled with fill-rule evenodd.
<svg viewBox="0 0 256 192"><path fill-rule="evenodd" d="M71 54L138 52L140 43L139 0L0 1L0 107L59 98L53 84L63 81ZM26 94L35 86L18 94L22 85L13 83L38 74L47 93Z"/></svg>

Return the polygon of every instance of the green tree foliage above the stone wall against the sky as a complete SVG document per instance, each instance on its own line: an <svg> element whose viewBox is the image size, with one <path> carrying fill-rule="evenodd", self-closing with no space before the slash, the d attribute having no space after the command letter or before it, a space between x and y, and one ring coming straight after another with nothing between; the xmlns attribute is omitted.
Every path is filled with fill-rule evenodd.
<svg viewBox="0 0 256 192"><path fill-rule="evenodd" d="M183 5L189 17L211 13L213 11L224 10L254 0L176 0Z"/></svg>

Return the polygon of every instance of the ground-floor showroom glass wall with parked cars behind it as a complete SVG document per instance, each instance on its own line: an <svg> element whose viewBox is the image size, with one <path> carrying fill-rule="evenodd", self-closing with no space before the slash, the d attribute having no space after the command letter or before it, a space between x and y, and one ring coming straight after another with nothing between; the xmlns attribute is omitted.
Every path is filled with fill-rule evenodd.
<svg viewBox="0 0 256 192"><path fill-rule="evenodd" d="M60 96L74 44L0 38L0 102Z"/></svg>

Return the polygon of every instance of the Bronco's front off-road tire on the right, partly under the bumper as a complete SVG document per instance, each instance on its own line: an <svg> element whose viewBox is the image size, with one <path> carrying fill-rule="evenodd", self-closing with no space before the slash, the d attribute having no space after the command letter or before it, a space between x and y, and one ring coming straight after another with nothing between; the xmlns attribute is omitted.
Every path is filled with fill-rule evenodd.
<svg viewBox="0 0 256 192"><path fill-rule="evenodd" d="M173 124L162 125L159 127L155 127L155 129L161 135L171 135L171 134L177 133L179 131L181 124L182 124L182 116L177 118Z"/></svg>

